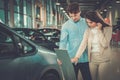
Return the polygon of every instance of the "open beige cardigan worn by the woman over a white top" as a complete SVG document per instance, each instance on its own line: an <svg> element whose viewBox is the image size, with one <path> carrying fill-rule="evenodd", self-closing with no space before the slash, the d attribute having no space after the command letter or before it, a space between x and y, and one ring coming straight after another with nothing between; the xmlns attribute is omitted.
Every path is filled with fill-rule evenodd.
<svg viewBox="0 0 120 80"><path fill-rule="evenodd" d="M105 27L103 31L98 30L99 33L99 42L100 42L100 54L102 54L103 58L105 60L109 60L110 58L110 40L112 36L112 27ZM88 59L91 61L91 41L93 39L93 34L91 32L91 29L88 28L83 36L83 40L81 42L81 45L76 53L75 57L80 58L82 53L86 48L88 48Z"/></svg>

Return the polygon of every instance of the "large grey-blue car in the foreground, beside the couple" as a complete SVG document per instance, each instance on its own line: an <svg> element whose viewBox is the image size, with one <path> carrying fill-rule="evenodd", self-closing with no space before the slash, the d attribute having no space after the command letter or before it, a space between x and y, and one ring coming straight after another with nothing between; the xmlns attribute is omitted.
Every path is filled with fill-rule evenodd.
<svg viewBox="0 0 120 80"><path fill-rule="evenodd" d="M63 80L56 54L0 23L0 80Z"/></svg>

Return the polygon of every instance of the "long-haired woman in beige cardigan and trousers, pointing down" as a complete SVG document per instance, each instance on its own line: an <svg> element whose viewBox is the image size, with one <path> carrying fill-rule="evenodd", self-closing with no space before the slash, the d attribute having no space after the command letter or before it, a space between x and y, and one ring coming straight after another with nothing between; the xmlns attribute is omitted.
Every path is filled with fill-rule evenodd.
<svg viewBox="0 0 120 80"><path fill-rule="evenodd" d="M110 61L112 27L105 23L102 17L94 11L87 12L85 19L89 28L85 31L76 56L71 59L71 61L77 63L87 47L92 80L98 80L98 77L100 80L103 80L100 71L102 71Z"/></svg>

